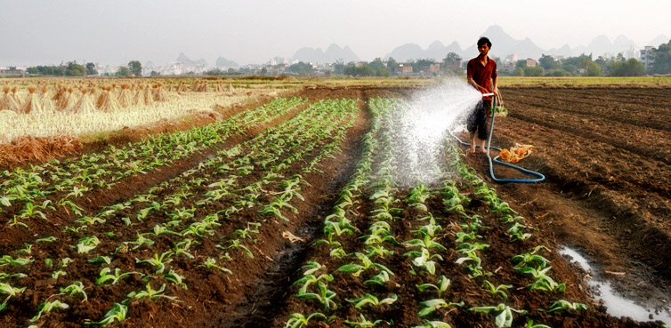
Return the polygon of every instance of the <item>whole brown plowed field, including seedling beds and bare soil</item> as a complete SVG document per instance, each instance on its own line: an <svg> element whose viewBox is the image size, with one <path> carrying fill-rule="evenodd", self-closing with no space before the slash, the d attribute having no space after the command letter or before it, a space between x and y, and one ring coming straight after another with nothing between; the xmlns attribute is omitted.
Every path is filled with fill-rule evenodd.
<svg viewBox="0 0 671 328"><path fill-rule="evenodd" d="M304 326L495 327L503 308L478 308L499 304L526 311L511 312L514 327L657 327L609 316L585 273L556 250L589 254L630 297L662 304L671 276L670 91L504 89L510 115L497 118L492 143L533 144L521 165L547 177L534 185L490 182L483 156L462 160L447 140L441 183L396 186L402 149L388 132L398 123L384 113L412 88L305 90L277 115L223 113L216 142L185 135L157 151L133 138L98 141L85 149L99 169L74 156L7 171L2 186L28 186L13 190L36 201L0 195L10 204L0 212L0 327L101 325L115 308L127 313L110 326L282 327L321 313ZM474 171L458 169L461 161ZM514 227L528 236L513 236ZM513 265L539 245L547 263ZM566 290L530 288L539 280L522 268L532 265L552 268ZM444 279L441 292L416 287ZM485 280L511 287L503 297ZM83 292L61 290L76 283ZM365 295L373 304L355 307ZM431 311L421 303L439 299L445 306ZM45 309L54 300L68 306ZM545 312L556 300L587 308Z"/></svg>

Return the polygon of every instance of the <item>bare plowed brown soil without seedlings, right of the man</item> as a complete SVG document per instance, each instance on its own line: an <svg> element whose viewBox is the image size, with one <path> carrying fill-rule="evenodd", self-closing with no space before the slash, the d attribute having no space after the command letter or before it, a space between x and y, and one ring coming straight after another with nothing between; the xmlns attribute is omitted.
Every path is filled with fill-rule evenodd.
<svg viewBox="0 0 671 328"><path fill-rule="evenodd" d="M497 117L492 138L501 148L534 145L519 165L546 176L538 184L493 183L506 201L556 246L594 260L592 274L624 297L660 310L671 294L670 91L505 88L510 114ZM485 158L469 163L489 179ZM535 178L501 165L495 172Z"/></svg>

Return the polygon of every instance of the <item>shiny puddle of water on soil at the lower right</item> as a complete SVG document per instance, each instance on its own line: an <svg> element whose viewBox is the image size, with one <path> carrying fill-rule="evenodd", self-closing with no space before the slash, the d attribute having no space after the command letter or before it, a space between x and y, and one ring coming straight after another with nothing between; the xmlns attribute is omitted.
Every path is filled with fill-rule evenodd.
<svg viewBox="0 0 671 328"><path fill-rule="evenodd" d="M559 253L570 256L572 261L578 262L578 265L585 271L590 271L592 269L589 261L579 252L570 247L563 247L559 250ZM663 310L660 311L659 314L656 314L654 311L636 304L633 300L628 300L627 298L616 294L609 282L605 281L600 276L596 276L594 272L593 274L594 276L587 277L586 282L590 287L593 287L597 291L598 296L595 297L603 300L603 305L608 308L608 313L611 316L629 316L632 319L641 322L660 320L665 324L671 324L671 313L669 313L668 310Z"/></svg>

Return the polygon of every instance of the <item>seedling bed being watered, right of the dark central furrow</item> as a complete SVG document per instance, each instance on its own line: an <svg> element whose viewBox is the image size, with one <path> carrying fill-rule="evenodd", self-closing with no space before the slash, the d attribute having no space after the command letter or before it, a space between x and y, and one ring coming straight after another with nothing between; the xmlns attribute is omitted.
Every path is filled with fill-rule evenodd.
<svg viewBox="0 0 671 328"><path fill-rule="evenodd" d="M441 185L399 188L402 149L392 137L392 113L403 103L368 105L375 118L360 163L295 279L286 327L327 321L539 328L546 325L534 320L586 308L563 300L566 285L552 278L543 254L549 250L533 227L460 161L456 148L445 149Z"/></svg>

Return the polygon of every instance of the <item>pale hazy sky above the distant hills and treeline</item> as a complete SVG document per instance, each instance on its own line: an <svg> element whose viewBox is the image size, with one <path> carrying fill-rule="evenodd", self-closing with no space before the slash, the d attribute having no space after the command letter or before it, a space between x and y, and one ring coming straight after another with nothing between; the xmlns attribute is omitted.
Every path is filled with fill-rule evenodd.
<svg viewBox="0 0 671 328"><path fill-rule="evenodd" d="M161 65L180 52L211 66L219 56L244 65L329 44L368 61L407 43L465 49L495 24L543 49L601 35L642 47L671 37L669 12L671 0L0 0L0 66Z"/></svg>

